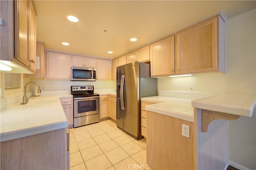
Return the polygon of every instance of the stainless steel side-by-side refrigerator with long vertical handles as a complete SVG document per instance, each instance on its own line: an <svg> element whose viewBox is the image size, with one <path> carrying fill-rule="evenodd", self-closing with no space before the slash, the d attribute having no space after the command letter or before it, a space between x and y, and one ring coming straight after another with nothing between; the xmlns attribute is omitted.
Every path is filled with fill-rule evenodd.
<svg viewBox="0 0 256 170"><path fill-rule="evenodd" d="M129 63L116 68L116 125L135 139L142 139L140 98L157 95L157 78L150 78L150 64Z"/></svg>

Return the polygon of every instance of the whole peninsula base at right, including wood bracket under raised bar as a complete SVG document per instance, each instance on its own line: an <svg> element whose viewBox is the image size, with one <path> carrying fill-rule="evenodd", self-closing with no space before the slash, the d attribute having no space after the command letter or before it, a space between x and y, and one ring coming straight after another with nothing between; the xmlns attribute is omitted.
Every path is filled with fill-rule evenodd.
<svg viewBox="0 0 256 170"><path fill-rule="evenodd" d="M147 111L148 166L161 170L225 169L228 165L227 120L238 117L195 108L193 123ZM205 125L209 119L210 123ZM182 124L190 127L190 138L182 136Z"/></svg>

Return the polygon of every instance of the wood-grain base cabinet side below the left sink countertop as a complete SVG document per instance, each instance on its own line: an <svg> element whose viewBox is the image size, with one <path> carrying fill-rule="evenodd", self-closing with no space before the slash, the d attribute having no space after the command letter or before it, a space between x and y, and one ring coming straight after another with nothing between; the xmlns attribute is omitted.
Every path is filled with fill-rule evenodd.
<svg viewBox="0 0 256 170"><path fill-rule="evenodd" d="M1 142L1 170L68 169L67 128Z"/></svg>

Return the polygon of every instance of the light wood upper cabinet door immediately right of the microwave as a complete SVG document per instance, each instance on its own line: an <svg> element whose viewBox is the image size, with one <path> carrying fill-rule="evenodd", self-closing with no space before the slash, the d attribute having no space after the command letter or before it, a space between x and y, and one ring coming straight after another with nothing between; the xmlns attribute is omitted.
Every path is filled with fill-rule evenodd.
<svg viewBox="0 0 256 170"><path fill-rule="evenodd" d="M112 61L106 59L96 59L97 61L97 80L111 80Z"/></svg>

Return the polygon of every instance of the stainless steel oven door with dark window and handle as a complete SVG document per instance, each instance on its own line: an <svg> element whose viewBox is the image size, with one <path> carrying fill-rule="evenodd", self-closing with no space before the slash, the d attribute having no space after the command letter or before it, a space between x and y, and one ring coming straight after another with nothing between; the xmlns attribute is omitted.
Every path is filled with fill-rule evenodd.
<svg viewBox="0 0 256 170"><path fill-rule="evenodd" d="M100 113L100 97L74 98L74 117Z"/></svg>

